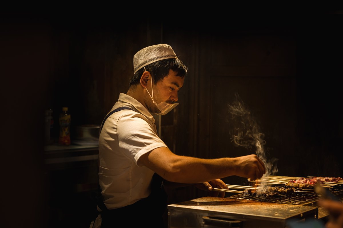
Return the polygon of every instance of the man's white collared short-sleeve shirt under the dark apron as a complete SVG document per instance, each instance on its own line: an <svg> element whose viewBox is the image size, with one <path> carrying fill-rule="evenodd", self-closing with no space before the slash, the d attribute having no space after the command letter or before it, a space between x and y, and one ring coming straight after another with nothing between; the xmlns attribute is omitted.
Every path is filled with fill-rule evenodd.
<svg viewBox="0 0 343 228"><path fill-rule="evenodd" d="M150 195L154 172L138 166L138 159L158 147L167 147L158 137L155 119L141 103L120 93L111 109L129 107L110 115L99 136L99 184L108 209L133 204Z"/></svg>

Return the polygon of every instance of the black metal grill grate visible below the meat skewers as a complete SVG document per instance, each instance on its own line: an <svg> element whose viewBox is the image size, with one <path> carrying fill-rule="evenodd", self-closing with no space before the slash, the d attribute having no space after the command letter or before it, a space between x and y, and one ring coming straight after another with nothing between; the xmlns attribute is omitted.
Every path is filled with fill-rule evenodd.
<svg viewBox="0 0 343 228"><path fill-rule="evenodd" d="M334 188L328 189L333 195L337 196L343 194L343 186L335 186ZM255 200L263 202L274 202L274 203L286 203L286 204L305 204L312 201L317 201L320 197L315 193L311 192L294 192L292 195L281 196L275 195L273 197L260 197L260 196L247 196L243 194L231 196L233 199L244 199L244 200Z"/></svg>

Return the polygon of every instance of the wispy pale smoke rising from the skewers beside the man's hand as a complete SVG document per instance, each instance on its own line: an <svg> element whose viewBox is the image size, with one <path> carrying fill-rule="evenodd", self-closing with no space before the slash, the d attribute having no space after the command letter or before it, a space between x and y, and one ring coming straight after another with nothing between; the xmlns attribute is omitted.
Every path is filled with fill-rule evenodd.
<svg viewBox="0 0 343 228"><path fill-rule="evenodd" d="M277 159L268 159L264 150L266 144L264 134L256 119L251 115L248 106L239 95L235 94L235 99L227 105L232 122L232 142L235 146L242 146L250 151L255 150L256 155L263 161L266 167L264 176L275 175L277 173Z"/></svg>

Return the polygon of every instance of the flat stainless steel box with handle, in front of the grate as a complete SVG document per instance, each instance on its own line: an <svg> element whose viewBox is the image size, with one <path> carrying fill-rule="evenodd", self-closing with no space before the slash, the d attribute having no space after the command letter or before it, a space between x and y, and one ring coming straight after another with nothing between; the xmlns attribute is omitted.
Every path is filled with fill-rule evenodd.
<svg viewBox="0 0 343 228"><path fill-rule="evenodd" d="M203 197L168 205L168 227L218 227L206 218L238 220L241 227L285 227L289 219L318 217L318 207Z"/></svg>

